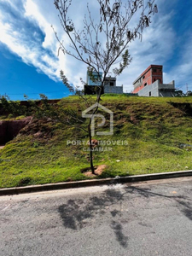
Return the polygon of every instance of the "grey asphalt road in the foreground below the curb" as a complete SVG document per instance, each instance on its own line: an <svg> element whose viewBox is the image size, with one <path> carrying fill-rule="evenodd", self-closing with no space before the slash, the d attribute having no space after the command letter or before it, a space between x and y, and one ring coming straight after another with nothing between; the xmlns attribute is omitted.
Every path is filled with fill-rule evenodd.
<svg viewBox="0 0 192 256"><path fill-rule="evenodd" d="M0 197L1 256L192 255L192 177Z"/></svg>

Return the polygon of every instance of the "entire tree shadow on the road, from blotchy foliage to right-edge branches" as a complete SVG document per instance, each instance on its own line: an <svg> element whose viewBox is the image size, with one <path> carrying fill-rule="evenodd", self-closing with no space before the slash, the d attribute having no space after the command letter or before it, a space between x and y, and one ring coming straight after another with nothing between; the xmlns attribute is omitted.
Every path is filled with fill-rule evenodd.
<svg viewBox="0 0 192 256"><path fill-rule="evenodd" d="M150 201L152 197L175 201L179 211L192 220L191 199L188 196L163 195L153 192L151 189L135 186L125 187L121 189L121 191L109 188L104 191L102 195L87 197L85 200L68 200L66 204L62 204L58 207L58 212L60 213L64 227L72 230L83 229L86 224L89 224L90 219L98 218L96 221L99 221L99 218L108 214L110 227L113 230L116 240L119 242L120 246L127 247L128 236L124 235L123 226L121 224L121 217L123 216L121 209L125 200L131 202L138 197L148 198L148 201ZM128 221L129 219L126 222Z"/></svg>

